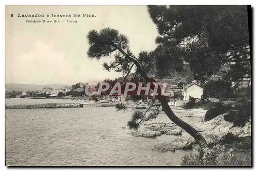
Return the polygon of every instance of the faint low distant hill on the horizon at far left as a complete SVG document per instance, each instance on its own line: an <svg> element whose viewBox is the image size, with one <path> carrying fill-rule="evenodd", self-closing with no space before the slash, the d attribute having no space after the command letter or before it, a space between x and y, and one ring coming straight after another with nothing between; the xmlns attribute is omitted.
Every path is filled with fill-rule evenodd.
<svg viewBox="0 0 256 171"><path fill-rule="evenodd" d="M69 86L71 87L71 85L68 84L46 84L46 85L35 85L35 84L14 84L14 83L7 83L5 84L5 90L6 91L41 91L42 88L49 86L52 87L54 89L56 88L60 88L63 86Z"/></svg>

